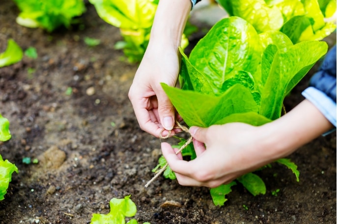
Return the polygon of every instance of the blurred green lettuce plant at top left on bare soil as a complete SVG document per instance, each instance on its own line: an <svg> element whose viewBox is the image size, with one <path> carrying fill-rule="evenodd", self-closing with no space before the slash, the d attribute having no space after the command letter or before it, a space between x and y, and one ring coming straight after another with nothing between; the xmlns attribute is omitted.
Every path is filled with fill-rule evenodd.
<svg viewBox="0 0 337 224"><path fill-rule="evenodd" d="M28 28L44 28L48 32L65 26L85 11L83 0L14 0L21 13L16 22Z"/></svg>

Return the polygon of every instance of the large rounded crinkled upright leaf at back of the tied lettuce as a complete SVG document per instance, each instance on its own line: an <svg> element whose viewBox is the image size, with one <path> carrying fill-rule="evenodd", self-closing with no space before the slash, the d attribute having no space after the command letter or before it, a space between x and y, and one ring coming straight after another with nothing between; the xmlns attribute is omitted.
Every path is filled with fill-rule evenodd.
<svg viewBox="0 0 337 224"><path fill-rule="evenodd" d="M209 30L189 60L209 80L213 92L221 94L226 90L222 89L224 82L238 71L255 73L261 54L260 39L253 26L239 17L229 17Z"/></svg>

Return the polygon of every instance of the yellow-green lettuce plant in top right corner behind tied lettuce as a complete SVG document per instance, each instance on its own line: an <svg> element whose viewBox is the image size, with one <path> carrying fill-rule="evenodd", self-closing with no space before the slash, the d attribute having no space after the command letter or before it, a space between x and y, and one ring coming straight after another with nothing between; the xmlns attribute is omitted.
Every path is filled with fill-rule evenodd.
<svg viewBox="0 0 337 224"><path fill-rule="evenodd" d="M230 16L238 16L257 32L278 30L293 43L321 40L336 29L326 22L336 11L336 0L217 0Z"/></svg>

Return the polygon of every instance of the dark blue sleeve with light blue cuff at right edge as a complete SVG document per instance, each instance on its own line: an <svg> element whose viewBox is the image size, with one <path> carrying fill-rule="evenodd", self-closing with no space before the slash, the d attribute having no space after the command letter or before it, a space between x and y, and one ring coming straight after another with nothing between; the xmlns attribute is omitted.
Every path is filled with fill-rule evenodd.
<svg viewBox="0 0 337 224"><path fill-rule="evenodd" d="M302 92L302 95L315 105L335 127L337 126L336 45L325 56L321 67L311 78L310 86Z"/></svg>

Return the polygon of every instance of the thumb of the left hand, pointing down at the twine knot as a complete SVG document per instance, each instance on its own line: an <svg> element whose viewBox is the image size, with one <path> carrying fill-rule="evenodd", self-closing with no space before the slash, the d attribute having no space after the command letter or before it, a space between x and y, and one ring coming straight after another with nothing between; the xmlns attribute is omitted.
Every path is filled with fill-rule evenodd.
<svg viewBox="0 0 337 224"><path fill-rule="evenodd" d="M172 130L175 121L173 105L165 92L163 92L163 94L158 94L157 99L160 121L166 130Z"/></svg>

